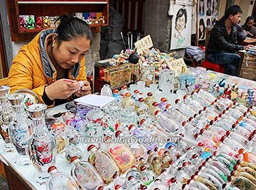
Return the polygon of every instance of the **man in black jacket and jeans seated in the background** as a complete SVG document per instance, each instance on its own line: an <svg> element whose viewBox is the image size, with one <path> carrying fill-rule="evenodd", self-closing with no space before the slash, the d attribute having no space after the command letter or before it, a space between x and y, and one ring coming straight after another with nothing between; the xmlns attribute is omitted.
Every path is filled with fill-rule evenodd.
<svg viewBox="0 0 256 190"><path fill-rule="evenodd" d="M237 45L237 31L235 25L241 20L242 10L238 5L233 5L225 11L225 15L217 21L211 30L207 59L214 64L223 64L225 74L238 75L237 67L240 56L236 52L245 50L252 45Z"/></svg>

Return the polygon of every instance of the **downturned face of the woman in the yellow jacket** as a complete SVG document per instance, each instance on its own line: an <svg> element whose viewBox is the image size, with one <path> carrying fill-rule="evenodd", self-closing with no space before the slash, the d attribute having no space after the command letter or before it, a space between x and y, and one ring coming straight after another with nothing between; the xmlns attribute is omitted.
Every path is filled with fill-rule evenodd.
<svg viewBox="0 0 256 190"><path fill-rule="evenodd" d="M84 58L90 47L91 41L86 37L62 41L53 47L53 58L62 69L69 69Z"/></svg>

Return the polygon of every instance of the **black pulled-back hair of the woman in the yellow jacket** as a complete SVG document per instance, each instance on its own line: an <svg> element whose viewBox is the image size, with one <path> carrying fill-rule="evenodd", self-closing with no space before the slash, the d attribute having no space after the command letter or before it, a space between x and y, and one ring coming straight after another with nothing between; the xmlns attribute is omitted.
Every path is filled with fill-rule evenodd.
<svg viewBox="0 0 256 190"><path fill-rule="evenodd" d="M92 42L91 28L86 21L67 14L59 16L56 22L58 20L61 20L56 31L59 42L70 41L83 36L86 36Z"/></svg>

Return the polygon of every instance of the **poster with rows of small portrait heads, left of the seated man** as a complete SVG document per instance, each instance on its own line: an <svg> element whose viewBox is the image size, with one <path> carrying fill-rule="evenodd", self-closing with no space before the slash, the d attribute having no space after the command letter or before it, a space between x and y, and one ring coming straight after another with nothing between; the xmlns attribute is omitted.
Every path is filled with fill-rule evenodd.
<svg viewBox="0 0 256 190"><path fill-rule="evenodd" d="M197 39L206 39L206 27L212 28L218 18L218 0L197 1Z"/></svg>

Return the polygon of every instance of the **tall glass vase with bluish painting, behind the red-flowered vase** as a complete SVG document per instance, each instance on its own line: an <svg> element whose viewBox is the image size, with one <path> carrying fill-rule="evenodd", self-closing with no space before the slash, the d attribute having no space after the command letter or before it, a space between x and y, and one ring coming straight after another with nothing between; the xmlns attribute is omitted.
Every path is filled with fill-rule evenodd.
<svg viewBox="0 0 256 190"><path fill-rule="evenodd" d="M23 107L24 98L25 94L14 93L7 95L7 99L12 104L12 110L14 111L13 121L8 128L10 129L12 144L19 154L16 161L19 165L30 164L28 145L33 133L32 122Z"/></svg>

